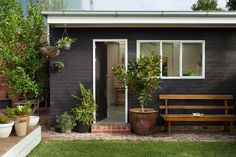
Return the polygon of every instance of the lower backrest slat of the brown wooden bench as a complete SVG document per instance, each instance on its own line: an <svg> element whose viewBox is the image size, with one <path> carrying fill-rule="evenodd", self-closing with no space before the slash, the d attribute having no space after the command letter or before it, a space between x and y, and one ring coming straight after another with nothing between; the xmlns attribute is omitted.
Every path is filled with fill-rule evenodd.
<svg viewBox="0 0 236 157"><path fill-rule="evenodd" d="M182 106L182 105L172 105L172 106L160 106L160 109L234 109L233 106Z"/></svg>

